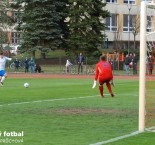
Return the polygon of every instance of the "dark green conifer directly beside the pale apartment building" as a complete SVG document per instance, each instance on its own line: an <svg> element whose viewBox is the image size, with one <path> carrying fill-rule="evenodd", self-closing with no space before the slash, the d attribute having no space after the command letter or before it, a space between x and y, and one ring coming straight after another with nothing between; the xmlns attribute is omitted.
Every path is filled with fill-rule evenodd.
<svg viewBox="0 0 155 145"><path fill-rule="evenodd" d="M102 0L69 0L67 51L92 53L103 42L105 24L109 16Z"/></svg>

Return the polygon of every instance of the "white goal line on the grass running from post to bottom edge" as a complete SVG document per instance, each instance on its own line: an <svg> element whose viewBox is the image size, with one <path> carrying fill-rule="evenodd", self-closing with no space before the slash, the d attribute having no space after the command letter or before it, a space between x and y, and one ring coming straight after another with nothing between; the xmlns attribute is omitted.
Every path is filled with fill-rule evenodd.
<svg viewBox="0 0 155 145"><path fill-rule="evenodd" d="M132 133L127 134L127 135L115 137L115 138L112 138L112 139L109 139L109 140L106 140L106 141L97 142L97 143L90 144L90 145L103 145L103 144L107 144L107 143L111 143L111 142L114 142L114 141L118 141L118 140L121 140L121 139L124 139L124 138L127 138L127 137L131 137L131 136L137 135L139 133L141 133L141 132L135 131L135 132L132 132Z"/></svg>

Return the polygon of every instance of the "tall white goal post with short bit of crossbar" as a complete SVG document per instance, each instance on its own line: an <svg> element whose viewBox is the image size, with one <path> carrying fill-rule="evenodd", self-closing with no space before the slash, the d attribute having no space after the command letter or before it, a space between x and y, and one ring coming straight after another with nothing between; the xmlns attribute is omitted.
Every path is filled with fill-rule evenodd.
<svg viewBox="0 0 155 145"><path fill-rule="evenodd" d="M139 131L145 130L145 101L146 101L146 58L147 58L147 7L155 8L155 3L141 2L140 12L140 67L139 67ZM154 9L155 11L155 9ZM154 31L154 30L153 30Z"/></svg>

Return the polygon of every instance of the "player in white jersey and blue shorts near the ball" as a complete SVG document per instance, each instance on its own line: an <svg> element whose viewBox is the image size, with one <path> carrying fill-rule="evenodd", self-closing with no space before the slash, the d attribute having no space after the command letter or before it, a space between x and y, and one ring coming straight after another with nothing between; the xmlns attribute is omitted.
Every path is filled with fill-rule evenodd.
<svg viewBox="0 0 155 145"><path fill-rule="evenodd" d="M7 73L5 72L5 64L7 60L12 60L12 58L6 57L3 55L3 52L0 53L0 85L3 86L3 81L7 77Z"/></svg>

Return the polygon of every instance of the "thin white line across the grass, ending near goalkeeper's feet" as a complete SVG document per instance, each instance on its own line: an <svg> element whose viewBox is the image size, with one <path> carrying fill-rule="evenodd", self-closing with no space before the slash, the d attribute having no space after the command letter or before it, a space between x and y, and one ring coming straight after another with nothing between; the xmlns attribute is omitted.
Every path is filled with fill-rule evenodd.
<svg viewBox="0 0 155 145"><path fill-rule="evenodd" d="M76 97L76 98L61 98L61 99L49 99L49 100L37 100L37 101L31 101L31 102L19 102L19 103L10 103L10 104L2 104L0 107L6 106L6 105L22 105L22 104L30 104L30 103L41 103L41 102L52 102L52 101L65 101L65 100L76 100L76 99L86 99L86 98L93 98L98 97L99 95L95 96L85 96L85 97Z"/></svg>

